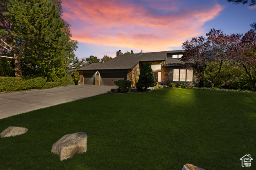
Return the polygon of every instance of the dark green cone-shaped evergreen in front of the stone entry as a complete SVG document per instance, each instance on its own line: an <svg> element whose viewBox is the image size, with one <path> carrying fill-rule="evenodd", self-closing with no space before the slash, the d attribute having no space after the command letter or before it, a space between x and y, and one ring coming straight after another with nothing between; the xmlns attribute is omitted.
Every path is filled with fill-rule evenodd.
<svg viewBox="0 0 256 170"><path fill-rule="evenodd" d="M156 86L156 79L152 68L149 63L144 64L142 70L140 71L139 80L136 83L136 87L141 90L147 90L148 87Z"/></svg>

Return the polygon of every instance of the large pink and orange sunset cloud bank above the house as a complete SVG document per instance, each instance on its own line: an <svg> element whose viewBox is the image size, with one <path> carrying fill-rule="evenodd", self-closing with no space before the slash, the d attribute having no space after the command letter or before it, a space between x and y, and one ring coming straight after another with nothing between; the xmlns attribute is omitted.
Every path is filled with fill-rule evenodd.
<svg viewBox="0 0 256 170"><path fill-rule="evenodd" d="M202 25L216 18L223 7L201 4L190 0L62 0L72 39L144 51L180 47L184 40L202 35Z"/></svg>

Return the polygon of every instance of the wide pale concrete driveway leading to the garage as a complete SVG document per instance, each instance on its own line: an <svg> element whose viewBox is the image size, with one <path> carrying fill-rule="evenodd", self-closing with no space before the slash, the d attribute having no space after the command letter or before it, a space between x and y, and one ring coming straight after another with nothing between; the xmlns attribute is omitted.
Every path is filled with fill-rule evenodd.
<svg viewBox="0 0 256 170"><path fill-rule="evenodd" d="M104 94L117 86L78 85L0 93L0 119L20 113Z"/></svg>

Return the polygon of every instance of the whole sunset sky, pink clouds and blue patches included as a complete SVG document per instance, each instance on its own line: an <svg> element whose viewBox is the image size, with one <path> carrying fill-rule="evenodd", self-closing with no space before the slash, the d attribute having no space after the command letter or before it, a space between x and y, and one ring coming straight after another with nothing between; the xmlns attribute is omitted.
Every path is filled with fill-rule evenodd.
<svg viewBox="0 0 256 170"><path fill-rule="evenodd" d="M78 59L182 49L210 29L246 33L256 21L256 6L226 0L62 0L62 18L79 42Z"/></svg>

